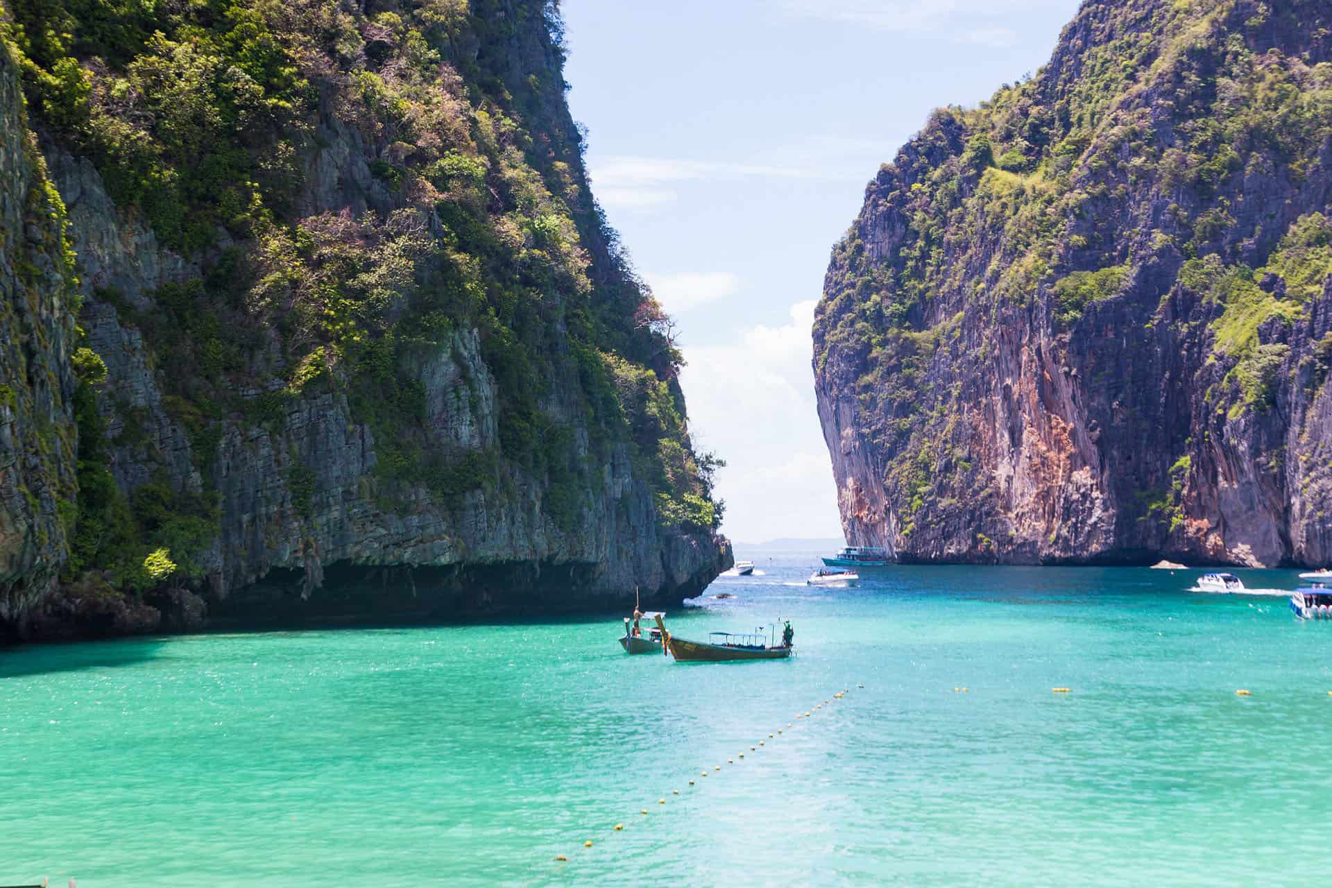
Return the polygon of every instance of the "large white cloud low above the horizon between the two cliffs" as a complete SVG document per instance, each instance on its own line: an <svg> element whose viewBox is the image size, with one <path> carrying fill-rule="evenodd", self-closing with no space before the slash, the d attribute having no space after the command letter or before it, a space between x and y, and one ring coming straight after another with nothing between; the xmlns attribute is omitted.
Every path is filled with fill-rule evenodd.
<svg viewBox="0 0 1332 888"><path fill-rule="evenodd" d="M836 537L832 467L814 403L814 300L790 324L737 330L733 343L685 347L681 383L695 441L727 459L717 494L733 539Z"/></svg>

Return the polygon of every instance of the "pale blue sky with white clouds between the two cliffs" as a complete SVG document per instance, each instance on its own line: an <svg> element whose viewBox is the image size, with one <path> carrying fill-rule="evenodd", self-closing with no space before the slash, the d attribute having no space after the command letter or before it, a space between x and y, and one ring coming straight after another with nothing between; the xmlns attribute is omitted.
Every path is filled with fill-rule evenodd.
<svg viewBox="0 0 1332 888"><path fill-rule="evenodd" d="M1076 0L563 0L593 193L678 321L733 541L840 537L810 326L879 164L1050 57Z"/></svg>

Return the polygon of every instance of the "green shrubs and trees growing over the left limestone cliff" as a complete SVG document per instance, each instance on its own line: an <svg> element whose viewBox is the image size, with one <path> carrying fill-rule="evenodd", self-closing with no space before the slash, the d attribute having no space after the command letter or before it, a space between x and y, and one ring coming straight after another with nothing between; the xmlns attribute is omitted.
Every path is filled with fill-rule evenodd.
<svg viewBox="0 0 1332 888"><path fill-rule="evenodd" d="M362 483L385 511L517 503L534 482L571 533L627 447L663 530L717 529L718 463L691 446L667 320L587 190L554 3L5 1L44 137L200 270L95 297L143 332L201 487L164 463L117 486L112 445L159 457L136 411L81 374L68 572L198 579L225 430L281 433L321 395L369 427ZM352 154L336 176L330 145ZM473 330L497 435L464 447L432 433L422 374ZM488 381L465 382L476 413ZM309 518L313 470L284 481Z"/></svg>

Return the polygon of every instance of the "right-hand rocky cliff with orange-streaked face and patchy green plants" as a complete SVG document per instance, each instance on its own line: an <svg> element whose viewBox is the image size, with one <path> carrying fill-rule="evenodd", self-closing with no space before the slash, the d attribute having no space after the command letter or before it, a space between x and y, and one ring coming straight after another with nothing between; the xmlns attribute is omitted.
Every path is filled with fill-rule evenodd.
<svg viewBox="0 0 1332 888"><path fill-rule="evenodd" d="M1332 559L1332 15L1087 0L834 249L819 418L904 560Z"/></svg>

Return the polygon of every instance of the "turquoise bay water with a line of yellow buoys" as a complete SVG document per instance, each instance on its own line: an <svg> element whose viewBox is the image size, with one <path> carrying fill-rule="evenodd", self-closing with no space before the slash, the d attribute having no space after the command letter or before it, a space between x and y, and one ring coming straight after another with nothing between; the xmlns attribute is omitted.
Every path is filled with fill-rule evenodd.
<svg viewBox="0 0 1332 888"><path fill-rule="evenodd" d="M1285 596L759 562L669 626L789 616L789 662L615 616L0 652L0 884L1328 883L1332 624Z"/></svg>

